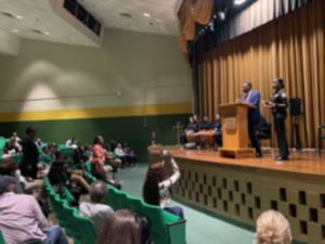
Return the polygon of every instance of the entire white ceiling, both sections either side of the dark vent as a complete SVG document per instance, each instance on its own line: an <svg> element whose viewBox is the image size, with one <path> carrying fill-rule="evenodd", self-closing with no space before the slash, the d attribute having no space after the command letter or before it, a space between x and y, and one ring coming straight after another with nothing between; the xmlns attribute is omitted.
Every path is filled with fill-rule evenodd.
<svg viewBox="0 0 325 244"><path fill-rule="evenodd" d="M107 28L172 36L178 35L177 1L78 0ZM0 0L0 29L20 38L98 47L57 16L48 0ZM131 17L120 13L128 13ZM151 16L146 17L144 13ZM17 18L17 15L23 18Z"/></svg>

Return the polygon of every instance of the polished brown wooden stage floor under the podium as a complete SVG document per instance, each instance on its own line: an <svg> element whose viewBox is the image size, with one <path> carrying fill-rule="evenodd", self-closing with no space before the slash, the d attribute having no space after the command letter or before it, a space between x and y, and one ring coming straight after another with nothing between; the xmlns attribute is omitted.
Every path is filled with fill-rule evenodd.
<svg viewBox="0 0 325 244"><path fill-rule="evenodd" d="M164 146L153 145L150 151L159 153L161 149L169 149L174 157L200 160L212 164L223 164L229 166L251 167L266 170L277 170L282 172L295 172L313 176L325 176L325 153L318 156L316 150L303 150L290 152L289 160L275 162L276 150L263 149L261 158L225 158L220 157L218 151L209 150L186 150L180 145Z"/></svg>

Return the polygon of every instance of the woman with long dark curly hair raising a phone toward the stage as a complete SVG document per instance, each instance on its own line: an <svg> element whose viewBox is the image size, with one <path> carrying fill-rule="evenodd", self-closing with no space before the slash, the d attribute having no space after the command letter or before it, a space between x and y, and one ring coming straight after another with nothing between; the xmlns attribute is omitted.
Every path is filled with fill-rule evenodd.
<svg viewBox="0 0 325 244"><path fill-rule="evenodd" d="M161 150L161 162L150 166L143 185L143 197L147 204L160 206L166 211L184 218L181 207L171 207L171 185L177 182L181 174L179 167L168 150ZM169 160L173 175L168 178L164 164Z"/></svg>

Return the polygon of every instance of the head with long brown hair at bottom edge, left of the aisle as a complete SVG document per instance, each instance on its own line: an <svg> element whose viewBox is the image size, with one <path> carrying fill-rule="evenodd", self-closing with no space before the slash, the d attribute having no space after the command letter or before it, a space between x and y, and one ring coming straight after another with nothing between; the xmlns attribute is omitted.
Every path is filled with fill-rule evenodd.
<svg viewBox="0 0 325 244"><path fill-rule="evenodd" d="M141 243L141 227L139 219L128 209L121 209L110 215L96 240L96 244L121 243Z"/></svg>

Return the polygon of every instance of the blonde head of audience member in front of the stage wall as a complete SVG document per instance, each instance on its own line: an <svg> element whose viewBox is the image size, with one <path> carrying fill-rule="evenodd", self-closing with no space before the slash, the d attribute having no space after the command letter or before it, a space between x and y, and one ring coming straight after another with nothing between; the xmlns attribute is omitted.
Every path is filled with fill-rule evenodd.
<svg viewBox="0 0 325 244"><path fill-rule="evenodd" d="M292 241L288 220L276 210L266 210L256 222L253 244L290 244Z"/></svg>

